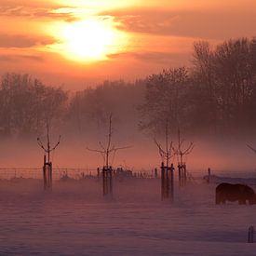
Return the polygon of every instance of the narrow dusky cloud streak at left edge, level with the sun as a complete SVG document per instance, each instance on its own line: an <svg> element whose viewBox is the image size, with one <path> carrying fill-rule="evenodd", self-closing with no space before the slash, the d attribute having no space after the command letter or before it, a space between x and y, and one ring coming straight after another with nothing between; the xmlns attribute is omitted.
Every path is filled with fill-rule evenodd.
<svg viewBox="0 0 256 256"><path fill-rule="evenodd" d="M0 47L36 47L47 46L56 43L54 38L50 37L33 37L27 35L9 35L0 34Z"/></svg>

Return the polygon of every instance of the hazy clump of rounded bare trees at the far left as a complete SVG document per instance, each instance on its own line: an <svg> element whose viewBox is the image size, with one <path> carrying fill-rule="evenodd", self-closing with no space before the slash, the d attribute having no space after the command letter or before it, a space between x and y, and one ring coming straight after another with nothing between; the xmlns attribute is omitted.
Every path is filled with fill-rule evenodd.
<svg viewBox="0 0 256 256"><path fill-rule="evenodd" d="M29 74L5 74L0 85L0 131L29 136L43 131L46 120L64 114L67 92L45 86Z"/></svg>

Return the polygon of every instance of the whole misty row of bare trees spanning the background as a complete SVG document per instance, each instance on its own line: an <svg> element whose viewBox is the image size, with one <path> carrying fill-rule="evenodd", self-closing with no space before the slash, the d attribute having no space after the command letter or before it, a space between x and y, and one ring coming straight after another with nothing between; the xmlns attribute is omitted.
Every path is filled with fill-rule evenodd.
<svg viewBox="0 0 256 256"><path fill-rule="evenodd" d="M163 70L134 83L106 81L74 94L29 74L4 74L0 85L0 134L34 136L47 120L71 131L101 128L112 113L128 127L230 134L256 128L256 38L211 47L195 42L191 65Z"/></svg>

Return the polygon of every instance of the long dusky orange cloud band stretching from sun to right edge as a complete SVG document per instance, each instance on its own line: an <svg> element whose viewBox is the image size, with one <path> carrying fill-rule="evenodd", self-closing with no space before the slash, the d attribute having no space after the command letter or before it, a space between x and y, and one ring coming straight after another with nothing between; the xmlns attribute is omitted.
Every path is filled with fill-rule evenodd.
<svg viewBox="0 0 256 256"><path fill-rule="evenodd" d="M226 39L252 35L254 10L164 10L137 8L104 12L115 18L120 30L130 33Z"/></svg>

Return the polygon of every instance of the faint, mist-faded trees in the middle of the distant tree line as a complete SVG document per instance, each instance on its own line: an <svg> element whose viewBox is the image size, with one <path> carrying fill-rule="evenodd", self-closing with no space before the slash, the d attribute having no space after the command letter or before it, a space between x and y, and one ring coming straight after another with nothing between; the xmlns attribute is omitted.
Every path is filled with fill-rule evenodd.
<svg viewBox="0 0 256 256"><path fill-rule="evenodd" d="M123 81L105 81L95 88L78 91L71 99L69 120L81 132L92 128L102 128L108 123L109 114L124 127L137 126L137 106L143 95L141 81L134 84ZM123 130L123 128L122 128Z"/></svg>

